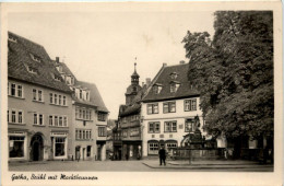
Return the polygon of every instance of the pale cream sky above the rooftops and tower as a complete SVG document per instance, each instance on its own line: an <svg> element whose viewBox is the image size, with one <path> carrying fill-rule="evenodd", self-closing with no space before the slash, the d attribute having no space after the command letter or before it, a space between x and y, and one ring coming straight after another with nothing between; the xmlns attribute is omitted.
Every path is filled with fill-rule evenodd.
<svg viewBox="0 0 284 186"><path fill-rule="evenodd" d="M25 11L9 13L8 30L60 58L76 79L95 83L117 119L134 70L140 84L163 63L185 58L187 31L214 33L212 11ZM135 60L137 58L137 60Z"/></svg>

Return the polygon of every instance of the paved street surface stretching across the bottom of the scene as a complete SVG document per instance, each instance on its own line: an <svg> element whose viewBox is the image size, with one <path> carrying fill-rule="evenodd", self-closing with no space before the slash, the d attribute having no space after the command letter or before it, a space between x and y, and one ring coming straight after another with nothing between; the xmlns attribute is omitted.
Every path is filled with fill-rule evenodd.
<svg viewBox="0 0 284 186"><path fill-rule="evenodd" d="M237 162L238 163L238 162ZM81 162L26 162L12 163L9 165L9 171L75 171L75 172L272 172L272 165L259 164L211 164L211 165L182 165L168 162L166 166L158 165L157 160L143 161L81 161Z"/></svg>

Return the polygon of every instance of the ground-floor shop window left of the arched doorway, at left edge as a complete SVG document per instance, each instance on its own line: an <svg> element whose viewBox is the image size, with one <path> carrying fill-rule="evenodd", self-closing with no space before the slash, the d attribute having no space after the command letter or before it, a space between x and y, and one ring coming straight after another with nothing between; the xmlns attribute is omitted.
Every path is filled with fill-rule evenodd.
<svg viewBox="0 0 284 186"><path fill-rule="evenodd" d="M9 137L9 158L24 158L25 137Z"/></svg>

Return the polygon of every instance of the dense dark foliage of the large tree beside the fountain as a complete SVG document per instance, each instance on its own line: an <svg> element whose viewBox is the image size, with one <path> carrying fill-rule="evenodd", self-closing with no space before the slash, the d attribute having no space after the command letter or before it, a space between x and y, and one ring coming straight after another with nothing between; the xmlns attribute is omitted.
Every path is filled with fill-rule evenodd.
<svg viewBox="0 0 284 186"><path fill-rule="evenodd" d="M188 32L188 78L200 91L205 129L227 137L273 133L273 14L217 11L215 34Z"/></svg>

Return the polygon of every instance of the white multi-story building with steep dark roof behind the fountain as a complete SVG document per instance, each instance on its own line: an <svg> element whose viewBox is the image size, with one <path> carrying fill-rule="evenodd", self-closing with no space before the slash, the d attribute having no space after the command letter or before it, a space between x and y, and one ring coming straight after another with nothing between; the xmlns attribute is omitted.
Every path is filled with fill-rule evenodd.
<svg viewBox="0 0 284 186"><path fill-rule="evenodd" d="M143 156L158 154L161 147L167 151L180 147L190 131L200 129L205 135L199 93L188 82L187 66L164 63L141 101Z"/></svg>

